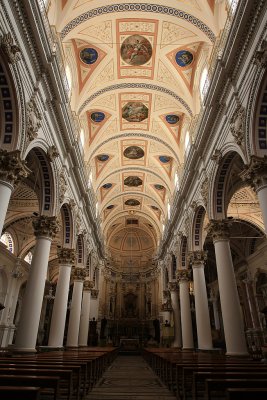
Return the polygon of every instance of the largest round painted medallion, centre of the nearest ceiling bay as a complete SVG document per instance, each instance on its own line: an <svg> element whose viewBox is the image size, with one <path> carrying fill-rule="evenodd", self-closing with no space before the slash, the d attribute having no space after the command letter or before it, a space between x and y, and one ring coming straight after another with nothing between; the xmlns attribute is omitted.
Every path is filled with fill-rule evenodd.
<svg viewBox="0 0 267 400"><path fill-rule="evenodd" d="M151 56L151 43L144 36L129 36L121 45L121 58L129 65L144 65Z"/></svg>

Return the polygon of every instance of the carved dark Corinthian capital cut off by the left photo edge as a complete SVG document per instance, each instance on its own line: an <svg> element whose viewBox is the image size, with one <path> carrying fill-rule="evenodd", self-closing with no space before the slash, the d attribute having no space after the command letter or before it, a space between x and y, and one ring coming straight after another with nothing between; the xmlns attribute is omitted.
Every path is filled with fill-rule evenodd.
<svg viewBox="0 0 267 400"><path fill-rule="evenodd" d="M7 152L0 149L0 180L15 185L20 179L27 178L30 169L26 161L21 160L20 151Z"/></svg>

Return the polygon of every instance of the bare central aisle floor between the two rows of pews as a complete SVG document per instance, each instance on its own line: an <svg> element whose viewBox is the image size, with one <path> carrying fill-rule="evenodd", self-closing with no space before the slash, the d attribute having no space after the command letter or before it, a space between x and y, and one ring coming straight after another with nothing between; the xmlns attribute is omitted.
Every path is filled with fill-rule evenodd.
<svg viewBox="0 0 267 400"><path fill-rule="evenodd" d="M175 400L141 356L119 355L90 392L90 400Z"/></svg>

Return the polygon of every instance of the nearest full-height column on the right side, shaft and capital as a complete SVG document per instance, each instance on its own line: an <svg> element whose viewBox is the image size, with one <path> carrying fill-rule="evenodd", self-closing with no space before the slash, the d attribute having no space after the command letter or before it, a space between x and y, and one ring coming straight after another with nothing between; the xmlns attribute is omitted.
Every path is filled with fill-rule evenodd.
<svg viewBox="0 0 267 400"><path fill-rule="evenodd" d="M227 355L245 355L247 346L230 249L229 224L229 220L211 220L207 230L215 247Z"/></svg>

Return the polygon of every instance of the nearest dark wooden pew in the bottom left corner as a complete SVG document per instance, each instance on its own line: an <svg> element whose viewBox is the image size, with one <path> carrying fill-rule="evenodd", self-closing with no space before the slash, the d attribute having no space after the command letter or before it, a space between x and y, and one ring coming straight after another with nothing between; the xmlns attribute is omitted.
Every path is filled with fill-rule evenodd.
<svg viewBox="0 0 267 400"><path fill-rule="evenodd" d="M40 388L32 386L0 386L1 399L40 400Z"/></svg>

